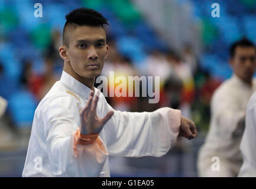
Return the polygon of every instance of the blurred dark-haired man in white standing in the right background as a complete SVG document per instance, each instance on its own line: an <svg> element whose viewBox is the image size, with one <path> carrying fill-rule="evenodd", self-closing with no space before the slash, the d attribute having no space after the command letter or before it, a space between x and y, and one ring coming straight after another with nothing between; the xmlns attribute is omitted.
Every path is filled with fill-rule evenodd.
<svg viewBox="0 0 256 189"><path fill-rule="evenodd" d="M211 101L210 129L199 151L200 177L236 177L242 165L239 145L245 127L245 110L256 89L252 79L256 65L255 45L246 38L231 46L234 74L218 87Z"/></svg>

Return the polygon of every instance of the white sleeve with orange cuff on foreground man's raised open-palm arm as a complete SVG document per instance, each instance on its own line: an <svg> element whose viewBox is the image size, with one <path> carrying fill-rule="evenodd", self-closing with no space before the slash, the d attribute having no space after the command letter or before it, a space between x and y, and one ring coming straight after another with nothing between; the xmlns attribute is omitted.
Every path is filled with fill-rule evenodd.
<svg viewBox="0 0 256 189"><path fill-rule="evenodd" d="M68 98L61 100L50 104L44 116L47 153L53 174L60 177L99 177L108 156L105 145L99 136L93 144L77 144L76 103Z"/></svg>

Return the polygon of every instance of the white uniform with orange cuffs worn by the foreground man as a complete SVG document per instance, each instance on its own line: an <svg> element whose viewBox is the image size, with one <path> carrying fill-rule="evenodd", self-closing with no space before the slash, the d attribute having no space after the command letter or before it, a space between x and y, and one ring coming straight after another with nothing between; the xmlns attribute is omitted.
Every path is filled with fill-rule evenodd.
<svg viewBox="0 0 256 189"><path fill-rule="evenodd" d="M110 177L108 155L161 157L176 142L181 112L163 107L141 113L114 110L93 144L74 145L79 109L90 91L63 71L35 110L22 177ZM110 110L100 93L97 115L103 118Z"/></svg>

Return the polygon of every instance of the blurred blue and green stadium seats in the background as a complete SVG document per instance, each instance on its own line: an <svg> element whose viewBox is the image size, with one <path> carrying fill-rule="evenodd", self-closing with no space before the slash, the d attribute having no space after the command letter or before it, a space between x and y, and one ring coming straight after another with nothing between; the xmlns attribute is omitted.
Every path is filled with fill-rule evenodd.
<svg viewBox="0 0 256 189"><path fill-rule="evenodd" d="M230 77L229 45L244 35L255 42L256 18L253 14L256 1L220 0L218 3L221 6L221 18L212 18L210 15L211 4L215 1L184 0L180 1L180 4L187 1L194 6L194 18L202 20L202 43L206 51L202 52L200 66L215 77ZM0 42L0 63L5 71L5 76L0 77L1 86L5 86L0 94L9 96L9 108L18 125L33 119L35 105L33 97L28 92L20 91L14 94L14 91L19 90L21 60L31 58L35 71L40 72L44 53L51 42L51 31L62 30L64 15L72 9L85 6L100 11L108 18L108 36L116 40L119 53L131 58L135 67L142 63L150 51L166 50L166 41L162 41L154 29L145 22L141 12L131 1L45 0L42 18L34 17L35 3L37 1L34 0L2 0L0 4L0 35L5 39ZM7 84L7 80L12 84ZM23 106L28 109L22 109Z"/></svg>

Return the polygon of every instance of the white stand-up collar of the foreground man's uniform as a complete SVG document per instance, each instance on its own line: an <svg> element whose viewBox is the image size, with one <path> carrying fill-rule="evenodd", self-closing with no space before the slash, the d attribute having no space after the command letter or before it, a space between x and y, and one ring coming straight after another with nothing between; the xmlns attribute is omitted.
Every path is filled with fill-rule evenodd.
<svg viewBox="0 0 256 189"><path fill-rule="evenodd" d="M74 77L70 76L70 74L66 73L65 71L62 71L60 82L79 93L80 96L83 96L86 99L89 98L90 92L92 91L88 86L74 79Z"/></svg>

